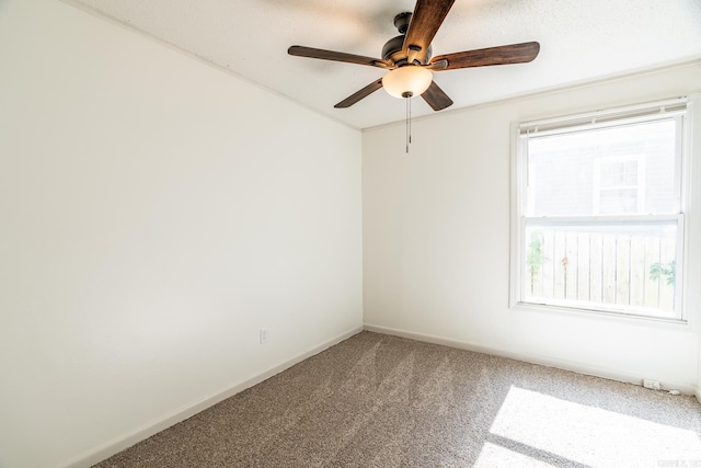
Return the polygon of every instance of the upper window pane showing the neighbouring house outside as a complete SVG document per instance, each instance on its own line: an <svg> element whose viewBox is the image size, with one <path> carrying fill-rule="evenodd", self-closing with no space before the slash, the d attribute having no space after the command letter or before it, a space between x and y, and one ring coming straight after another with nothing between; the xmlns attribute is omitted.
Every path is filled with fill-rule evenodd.
<svg viewBox="0 0 701 468"><path fill-rule="evenodd" d="M526 216L679 213L673 118L528 139Z"/></svg>

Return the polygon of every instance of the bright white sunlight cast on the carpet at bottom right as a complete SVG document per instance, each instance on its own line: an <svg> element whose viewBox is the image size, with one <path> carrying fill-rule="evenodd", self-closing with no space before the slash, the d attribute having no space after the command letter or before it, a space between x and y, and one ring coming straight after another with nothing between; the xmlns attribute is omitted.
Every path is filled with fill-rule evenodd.
<svg viewBox="0 0 701 468"><path fill-rule="evenodd" d="M516 453L502 447L507 452L496 450L490 446L494 444L486 443L480 454L483 466L508 466L507 460L495 464L499 458L493 457L522 457L529 450L536 458L541 458L538 454L545 458L552 454L573 465L597 467L701 466L701 442L693 431L514 386L490 432L497 440L513 441L515 446L528 449Z"/></svg>

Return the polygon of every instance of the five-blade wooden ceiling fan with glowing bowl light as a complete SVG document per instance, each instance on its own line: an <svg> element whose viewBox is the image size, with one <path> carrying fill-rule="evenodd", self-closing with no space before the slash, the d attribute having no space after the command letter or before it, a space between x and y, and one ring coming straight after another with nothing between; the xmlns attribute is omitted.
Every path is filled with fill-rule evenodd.
<svg viewBox="0 0 701 468"><path fill-rule="evenodd" d="M432 57L430 42L453 2L455 0L417 0L413 13L398 14L394 26L400 35L384 44L381 59L297 45L291 46L287 53L298 57L367 65L388 70L379 80L337 103L334 106L336 109L349 107L384 88L395 98L421 95L434 111L440 111L450 106L452 100L433 80L432 71L524 64L535 59L540 50L540 44L530 42Z"/></svg>

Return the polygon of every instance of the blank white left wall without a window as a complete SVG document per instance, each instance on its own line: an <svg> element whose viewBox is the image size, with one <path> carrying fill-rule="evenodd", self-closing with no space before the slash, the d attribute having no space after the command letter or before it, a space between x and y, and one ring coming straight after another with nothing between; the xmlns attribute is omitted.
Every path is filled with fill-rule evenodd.
<svg viewBox="0 0 701 468"><path fill-rule="evenodd" d="M0 2L0 68L1 467L359 330L359 132L57 1Z"/></svg>

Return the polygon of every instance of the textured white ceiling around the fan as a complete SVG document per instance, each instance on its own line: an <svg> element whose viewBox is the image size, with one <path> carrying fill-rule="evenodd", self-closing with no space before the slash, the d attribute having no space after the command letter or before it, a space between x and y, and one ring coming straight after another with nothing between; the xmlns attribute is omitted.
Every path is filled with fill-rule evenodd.
<svg viewBox="0 0 701 468"><path fill-rule="evenodd" d="M401 121L382 90L335 103L383 70L287 55L290 45L380 57L412 0L66 0L169 43L356 128ZM457 0L434 55L538 41L530 64L449 70L450 110L701 58L701 0ZM414 116L432 114L421 99Z"/></svg>

